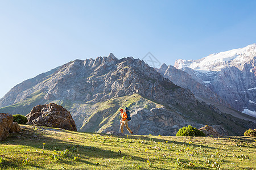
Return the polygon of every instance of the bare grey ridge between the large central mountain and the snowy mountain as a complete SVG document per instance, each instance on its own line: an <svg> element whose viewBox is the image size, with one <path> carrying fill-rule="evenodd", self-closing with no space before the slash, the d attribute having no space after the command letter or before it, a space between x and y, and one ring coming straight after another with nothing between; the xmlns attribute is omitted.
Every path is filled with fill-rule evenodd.
<svg viewBox="0 0 256 170"><path fill-rule="evenodd" d="M255 117L249 116L248 114L243 114L233 109L226 100L222 99L219 95L213 92L207 86L207 83L203 82L200 76L197 76L199 74L195 74L193 69L185 67L183 68L185 71L183 71L176 69L174 66L167 66L166 64L163 64L160 69L156 70L165 78L168 78L174 82L174 84L191 90L196 99L200 102L205 102L208 105L214 105L223 113L228 113L244 120L256 122Z"/></svg>

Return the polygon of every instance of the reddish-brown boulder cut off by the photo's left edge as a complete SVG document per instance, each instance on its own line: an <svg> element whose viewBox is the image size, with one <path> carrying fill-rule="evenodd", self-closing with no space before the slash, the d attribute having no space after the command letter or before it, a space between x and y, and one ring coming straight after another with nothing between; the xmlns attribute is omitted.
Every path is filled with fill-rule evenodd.
<svg viewBox="0 0 256 170"><path fill-rule="evenodd" d="M9 136L9 130L13 125L13 115L0 113L0 141Z"/></svg>

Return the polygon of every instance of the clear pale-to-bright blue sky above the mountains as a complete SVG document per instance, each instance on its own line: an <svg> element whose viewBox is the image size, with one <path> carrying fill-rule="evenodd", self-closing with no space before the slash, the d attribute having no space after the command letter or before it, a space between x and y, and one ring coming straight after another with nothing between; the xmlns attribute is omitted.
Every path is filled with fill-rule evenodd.
<svg viewBox="0 0 256 170"><path fill-rule="evenodd" d="M108 56L161 63L256 43L256 1L2 1L0 97L71 60Z"/></svg>

